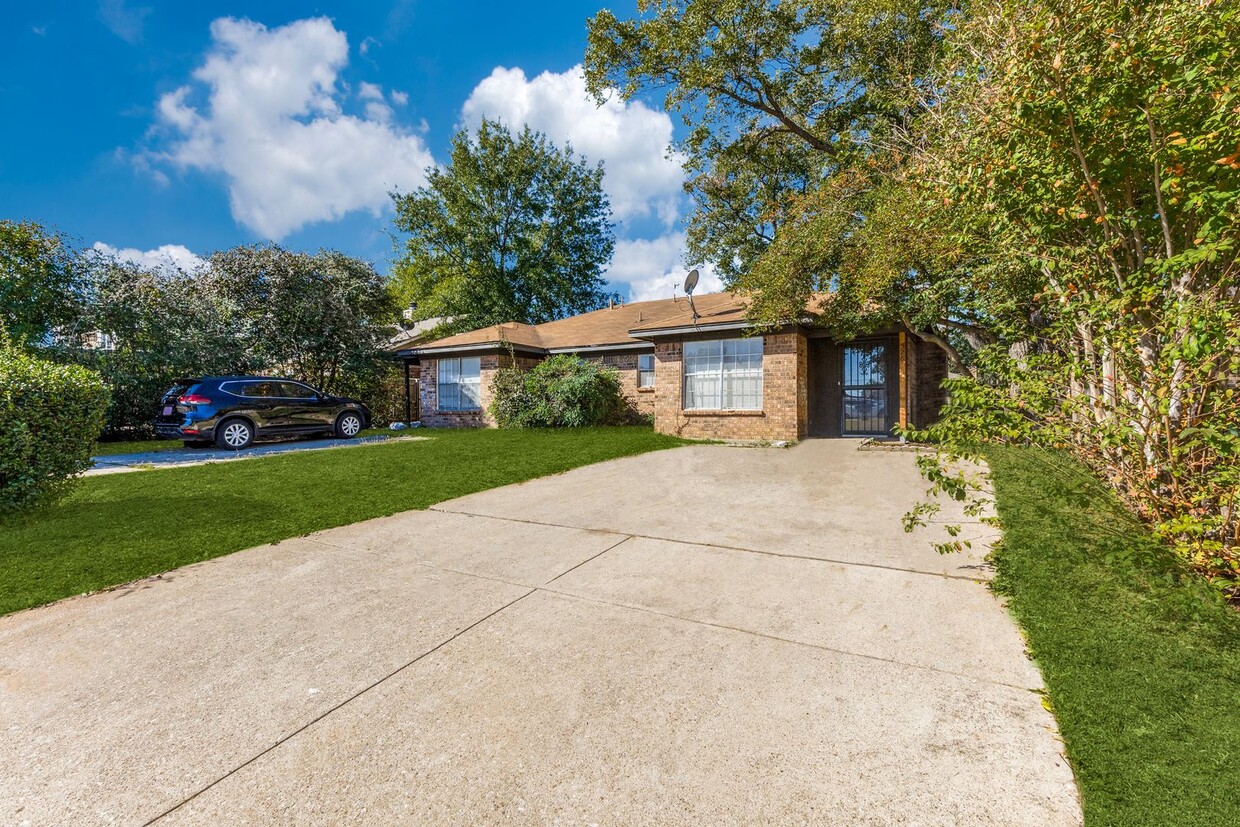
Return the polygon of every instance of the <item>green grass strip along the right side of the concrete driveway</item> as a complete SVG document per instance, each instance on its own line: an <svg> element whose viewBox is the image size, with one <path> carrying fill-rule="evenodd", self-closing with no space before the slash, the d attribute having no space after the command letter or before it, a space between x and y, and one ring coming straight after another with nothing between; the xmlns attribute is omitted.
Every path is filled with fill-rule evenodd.
<svg viewBox="0 0 1240 827"><path fill-rule="evenodd" d="M1080 465L988 453L996 589L1028 635L1087 827L1240 823L1240 613Z"/></svg>

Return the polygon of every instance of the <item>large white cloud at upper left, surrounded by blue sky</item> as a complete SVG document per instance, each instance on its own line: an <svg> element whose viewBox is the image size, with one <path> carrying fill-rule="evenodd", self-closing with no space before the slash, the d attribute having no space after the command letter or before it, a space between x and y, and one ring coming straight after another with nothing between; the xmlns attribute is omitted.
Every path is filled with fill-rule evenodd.
<svg viewBox="0 0 1240 827"><path fill-rule="evenodd" d="M393 188L425 182L422 138L391 122L382 89L360 86L365 114L342 110L348 41L326 17L268 29L223 17L193 82L159 102L148 162L223 176L233 217L280 239L355 210L378 213Z"/></svg>

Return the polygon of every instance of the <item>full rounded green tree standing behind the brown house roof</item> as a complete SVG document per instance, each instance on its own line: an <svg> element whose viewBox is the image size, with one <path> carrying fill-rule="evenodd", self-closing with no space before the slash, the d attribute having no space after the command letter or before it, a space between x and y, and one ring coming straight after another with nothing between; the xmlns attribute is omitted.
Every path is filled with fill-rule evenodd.
<svg viewBox="0 0 1240 827"><path fill-rule="evenodd" d="M611 298L603 268L615 239L603 166L526 126L484 120L453 139L428 182L394 193L408 234L394 274L419 316L449 330L538 324L595 310Z"/></svg>

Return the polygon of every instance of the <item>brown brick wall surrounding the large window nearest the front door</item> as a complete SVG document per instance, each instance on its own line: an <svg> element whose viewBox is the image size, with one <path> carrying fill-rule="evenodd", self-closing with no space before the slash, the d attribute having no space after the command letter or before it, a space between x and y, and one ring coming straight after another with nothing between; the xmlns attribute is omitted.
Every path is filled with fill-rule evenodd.
<svg viewBox="0 0 1240 827"><path fill-rule="evenodd" d="M689 439L800 439L808 408L808 351L800 334L763 337L763 410L682 409L681 342L655 346L655 429Z"/></svg>

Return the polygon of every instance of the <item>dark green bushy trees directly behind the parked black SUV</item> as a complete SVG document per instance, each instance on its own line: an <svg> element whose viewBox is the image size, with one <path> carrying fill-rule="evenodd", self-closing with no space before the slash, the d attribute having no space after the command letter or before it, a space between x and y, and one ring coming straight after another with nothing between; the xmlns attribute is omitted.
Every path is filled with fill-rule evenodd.
<svg viewBox="0 0 1240 827"><path fill-rule="evenodd" d="M337 252L277 245L216 253L191 272L87 255L91 306L58 353L97 368L112 388L108 433L143 430L175 377L272 372L378 402L394 369L381 345L394 325L388 281Z"/></svg>

